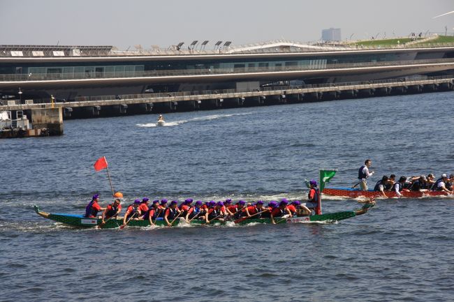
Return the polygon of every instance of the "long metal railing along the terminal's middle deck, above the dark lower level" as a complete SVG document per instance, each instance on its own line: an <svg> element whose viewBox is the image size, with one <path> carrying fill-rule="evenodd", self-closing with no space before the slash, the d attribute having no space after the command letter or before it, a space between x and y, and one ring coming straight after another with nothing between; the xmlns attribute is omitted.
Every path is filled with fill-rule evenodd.
<svg viewBox="0 0 454 302"><path fill-rule="evenodd" d="M273 66L256 68L205 68L205 69L183 69L183 70L147 70L131 71L124 73L34 73L29 75L0 75L0 82L11 81L43 81L43 80L96 80L112 78L131 78L131 77L168 77L168 76L191 76L191 75L228 75L242 73L279 73L306 70L326 70L326 69L346 69L346 68L370 68L381 66L407 66L418 64L454 63L453 58L449 59L425 59L413 61L386 61L386 62L363 62L363 63L335 63L318 64L307 66Z"/></svg>

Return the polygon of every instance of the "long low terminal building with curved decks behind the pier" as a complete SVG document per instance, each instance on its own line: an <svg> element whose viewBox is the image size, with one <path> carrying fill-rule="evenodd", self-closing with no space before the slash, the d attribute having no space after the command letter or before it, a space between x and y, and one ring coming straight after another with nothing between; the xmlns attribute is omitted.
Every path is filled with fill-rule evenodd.
<svg viewBox="0 0 454 302"><path fill-rule="evenodd" d="M333 29L337 30L337 29ZM340 31L339 31L340 35ZM334 35L336 36L336 35ZM454 46L365 48L274 41L218 41L121 51L112 46L0 45L1 98L243 89L453 75ZM19 93L20 91L20 93Z"/></svg>

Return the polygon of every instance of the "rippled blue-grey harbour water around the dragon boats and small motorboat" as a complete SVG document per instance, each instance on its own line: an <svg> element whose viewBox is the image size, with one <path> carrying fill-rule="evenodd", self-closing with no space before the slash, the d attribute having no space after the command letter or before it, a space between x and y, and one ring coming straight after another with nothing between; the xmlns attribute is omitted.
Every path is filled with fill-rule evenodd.
<svg viewBox="0 0 454 302"><path fill-rule="evenodd" d="M72 229L112 183L129 200L305 199L302 180L366 158L397 177L451 174L454 93L65 121L0 141L0 301L453 301L453 199L379 199L337 224ZM101 202L106 204L106 202ZM358 208L323 197L323 211Z"/></svg>

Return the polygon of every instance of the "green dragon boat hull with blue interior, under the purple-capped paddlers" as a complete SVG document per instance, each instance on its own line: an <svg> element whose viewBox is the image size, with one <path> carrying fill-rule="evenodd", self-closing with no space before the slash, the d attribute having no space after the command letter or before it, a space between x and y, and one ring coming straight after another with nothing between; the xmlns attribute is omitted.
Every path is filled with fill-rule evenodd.
<svg viewBox="0 0 454 302"><path fill-rule="evenodd" d="M307 222L336 222L339 220L344 220L347 218L353 218L358 215L362 215L367 213L367 211L374 206L375 203L371 202L368 204L363 205L360 209L356 209L353 211L342 211L342 212L335 212L335 213L325 213L321 215L312 215L312 216L301 216L301 217L288 217L288 218L274 218L277 224L281 223L307 223ZM123 219L119 218L112 218L107 220L104 225L101 224L101 218L85 218L83 215L77 214L66 214L66 213L46 213L40 211L37 205L34 205L34 210L38 213L39 216L44 218L54 220L56 222L61 222L64 225L70 225L72 227L78 228L89 228L89 227L101 227L103 229L114 229L119 228L123 224ZM240 221L238 221L240 220ZM271 224L270 218L247 218L247 219L238 219L238 220L215 220L210 223L210 225L226 225L228 223L236 223L238 225L247 225L249 223L266 223ZM187 222L184 218L175 219L172 222L172 226L177 225L184 225ZM205 220L191 220L189 222L190 225L206 225ZM162 218L158 218L155 222L156 226L166 226L166 222L162 220ZM130 220L128 223L129 227L149 227L148 220Z"/></svg>

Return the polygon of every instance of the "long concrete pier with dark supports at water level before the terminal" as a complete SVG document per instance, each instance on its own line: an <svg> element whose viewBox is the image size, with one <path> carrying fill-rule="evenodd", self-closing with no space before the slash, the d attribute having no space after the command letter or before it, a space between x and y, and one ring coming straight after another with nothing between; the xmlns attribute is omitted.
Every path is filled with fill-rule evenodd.
<svg viewBox="0 0 454 302"><path fill-rule="evenodd" d="M33 112L34 110L57 109L62 110L63 116L69 118L78 109L85 113L81 117L103 116L101 112L108 112L110 113L108 116L115 116L449 91L453 90L453 86L454 77L424 77L366 83L274 86L249 91L225 89L117 96L80 96L76 97L74 101L64 103L52 101L34 103L32 100L26 100L24 104L20 104L17 100L8 100L1 103L0 111L31 110Z"/></svg>

